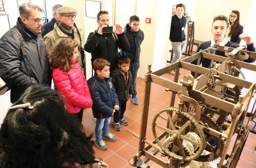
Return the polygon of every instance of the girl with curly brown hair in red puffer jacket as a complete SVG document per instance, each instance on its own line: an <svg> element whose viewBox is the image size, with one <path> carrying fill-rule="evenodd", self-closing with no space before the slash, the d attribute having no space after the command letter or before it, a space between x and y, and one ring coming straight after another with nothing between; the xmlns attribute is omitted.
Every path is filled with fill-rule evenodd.
<svg viewBox="0 0 256 168"><path fill-rule="evenodd" d="M83 108L91 108L93 101L77 57L78 43L70 38L59 39L51 54L52 78L69 113L82 122Z"/></svg>

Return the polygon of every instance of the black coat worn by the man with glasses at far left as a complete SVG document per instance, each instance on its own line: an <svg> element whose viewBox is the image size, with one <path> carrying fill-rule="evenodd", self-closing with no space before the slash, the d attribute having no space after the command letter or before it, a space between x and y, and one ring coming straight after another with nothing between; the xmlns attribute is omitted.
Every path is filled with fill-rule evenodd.
<svg viewBox="0 0 256 168"><path fill-rule="evenodd" d="M26 56L20 54L15 32L8 31L0 40L0 76L11 85L11 102L19 99L31 85L51 86L51 69L46 45L40 34L34 34L18 18L16 29L23 38Z"/></svg>

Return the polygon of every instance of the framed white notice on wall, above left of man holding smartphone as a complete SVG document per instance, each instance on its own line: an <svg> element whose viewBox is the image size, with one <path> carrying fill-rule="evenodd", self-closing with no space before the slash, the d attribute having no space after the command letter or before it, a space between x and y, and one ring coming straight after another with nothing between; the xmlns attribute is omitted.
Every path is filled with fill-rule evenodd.
<svg viewBox="0 0 256 168"><path fill-rule="evenodd" d="M101 10L100 1L86 1L86 16L97 18L98 12Z"/></svg>

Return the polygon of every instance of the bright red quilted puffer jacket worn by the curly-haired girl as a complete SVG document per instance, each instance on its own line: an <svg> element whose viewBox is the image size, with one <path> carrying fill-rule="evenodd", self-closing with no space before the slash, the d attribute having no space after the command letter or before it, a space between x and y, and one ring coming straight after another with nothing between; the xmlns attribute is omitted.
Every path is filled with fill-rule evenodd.
<svg viewBox="0 0 256 168"><path fill-rule="evenodd" d="M52 78L69 113L78 113L81 108L92 107L93 101L87 80L77 62L72 63L69 72L63 72L59 68L53 69Z"/></svg>

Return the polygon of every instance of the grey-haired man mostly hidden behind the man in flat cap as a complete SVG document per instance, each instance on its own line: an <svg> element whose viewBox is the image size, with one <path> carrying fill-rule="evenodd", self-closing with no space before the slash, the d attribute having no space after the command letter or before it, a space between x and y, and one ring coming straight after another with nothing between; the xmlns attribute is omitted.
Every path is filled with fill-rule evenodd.
<svg viewBox="0 0 256 168"><path fill-rule="evenodd" d="M43 38L44 38L44 36L45 36L47 33L49 33L49 32L51 32L52 30L54 30L54 24L55 24L57 21L59 21L59 18L58 18L58 15L57 15L57 9L59 9L59 8L61 8L61 7L63 7L63 6L60 5L60 4L56 4L56 5L54 5L54 6L52 7L52 15L53 15L53 18L51 19L50 22L48 22L48 23L42 25L42 33L41 33L41 35L42 35ZM76 26L76 23L74 23L74 26L76 27L77 34L78 34L78 36L79 36L79 38L80 38L80 41L82 41L82 39L81 39L81 34L80 34L80 32L78 31L78 28L77 28L77 26Z"/></svg>

